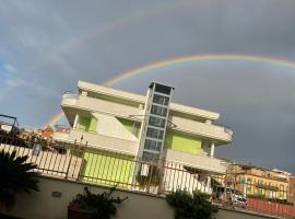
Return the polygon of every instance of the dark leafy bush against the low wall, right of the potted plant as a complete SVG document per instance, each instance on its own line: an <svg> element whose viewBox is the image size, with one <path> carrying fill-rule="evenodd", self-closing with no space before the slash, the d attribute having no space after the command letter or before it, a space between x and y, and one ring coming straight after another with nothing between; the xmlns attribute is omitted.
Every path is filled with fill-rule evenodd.
<svg viewBox="0 0 295 219"><path fill-rule="evenodd" d="M175 219L210 219L219 208L213 206L208 194L194 191L177 189L166 196L167 203L174 207Z"/></svg>

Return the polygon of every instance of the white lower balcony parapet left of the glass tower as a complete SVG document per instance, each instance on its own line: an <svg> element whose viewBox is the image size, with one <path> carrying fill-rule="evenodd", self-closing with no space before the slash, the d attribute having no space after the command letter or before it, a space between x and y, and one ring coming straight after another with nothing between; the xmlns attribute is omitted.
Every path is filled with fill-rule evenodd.
<svg viewBox="0 0 295 219"><path fill-rule="evenodd" d="M125 140L120 138L114 138L109 136L98 135L95 132L85 132L82 130L71 129L70 132L54 132L54 140L62 142L73 143L78 142L86 143L90 148L101 150L111 150L126 154L134 155L138 150L138 141Z"/></svg>

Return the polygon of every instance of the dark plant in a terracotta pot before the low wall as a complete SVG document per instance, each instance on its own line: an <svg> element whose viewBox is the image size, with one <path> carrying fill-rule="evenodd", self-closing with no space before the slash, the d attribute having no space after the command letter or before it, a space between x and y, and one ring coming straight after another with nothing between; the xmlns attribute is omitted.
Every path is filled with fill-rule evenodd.
<svg viewBox="0 0 295 219"><path fill-rule="evenodd" d="M117 212L115 204L121 204L128 197L113 197L116 187L102 194L93 194L84 187L83 194L78 194L68 207L69 219L109 219Z"/></svg>

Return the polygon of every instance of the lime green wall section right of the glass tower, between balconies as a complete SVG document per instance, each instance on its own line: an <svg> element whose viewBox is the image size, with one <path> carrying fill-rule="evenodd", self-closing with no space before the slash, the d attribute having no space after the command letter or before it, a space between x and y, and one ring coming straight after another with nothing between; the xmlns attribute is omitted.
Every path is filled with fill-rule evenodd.
<svg viewBox="0 0 295 219"><path fill-rule="evenodd" d="M192 136L167 130L165 146L172 150L196 154L201 150L202 141Z"/></svg>

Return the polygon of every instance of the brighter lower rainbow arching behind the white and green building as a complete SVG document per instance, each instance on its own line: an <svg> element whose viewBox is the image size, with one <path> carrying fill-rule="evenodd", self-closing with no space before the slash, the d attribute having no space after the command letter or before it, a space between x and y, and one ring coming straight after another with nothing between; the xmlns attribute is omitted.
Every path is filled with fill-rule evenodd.
<svg viewBox="0 0 295 219"><path fill-rule="evenodd" d="M282 67L295 68L295 61L291 61L283 58L273 58L273 57L264 57L264 56L252 56L252 55L240 55L240 54L208 54L208 55L191 55L191 56L182 56L182 57L174 57L169 59L165 59L162 61L152 62L150 65L139 67L132 69L130 71L126 71L117 74L116 77L109 79L104 82L103 85L111 87L118 82L127 80L133 76L138 76L141 73L148 73L149 71L157 70L165 67L176 67L178 65L189 65L203 60L240 60L240 61L251 61L267 65L279 65ZM58 112L55 114L46 124L54 126L63 117L62 112Z"/></svg>

